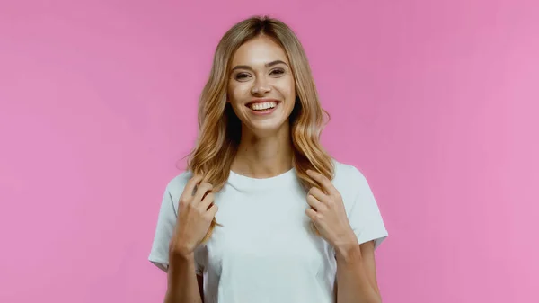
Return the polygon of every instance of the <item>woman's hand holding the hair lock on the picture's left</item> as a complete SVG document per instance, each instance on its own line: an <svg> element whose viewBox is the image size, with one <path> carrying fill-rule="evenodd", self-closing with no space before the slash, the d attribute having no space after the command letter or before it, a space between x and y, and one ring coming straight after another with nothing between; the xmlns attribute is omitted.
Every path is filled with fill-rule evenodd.
<svg viewBox="0 0 539 303"><path fill-rule="evenodd" d="M169 245L170 256L191 256L208 233L211 221L216 216L217 206L213 203L214 194L211 192L213 186L210 183L200 183L201 181L201 176L193 176L181 193L176 228ZM193 195L195 186L197 192Z"/></svg>

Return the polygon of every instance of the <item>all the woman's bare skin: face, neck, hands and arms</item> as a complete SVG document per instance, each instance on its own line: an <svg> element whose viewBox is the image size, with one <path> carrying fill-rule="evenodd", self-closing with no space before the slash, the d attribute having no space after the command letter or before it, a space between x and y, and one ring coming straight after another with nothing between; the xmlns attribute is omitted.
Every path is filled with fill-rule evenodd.
<svg viewBox="0 0 539 303"><path fill-rule="evenodd" d="M231 169L252 178L269 178L292 168L293 149L288 118L296 102L296 84L287 55L277 43L261 36L244 43L234 53L227 86L228 100L242 121L242 138ZM267 116L255 115L246 107L258 98L279 101ZM321 236L335 248L338 303L381 302L376 282L374 243L362 245L354 235L340 193L322 174L309 171L321 188L312 188L306 201L311 218ZM171 242L169 290L165 302L202 302L202 277L194 274L194 249L208 231L216 214L211 184L194 176L181 195L181 219ZM181 291L177 291L181 290ZM181 292L181 293L180 293Z"/></svg>

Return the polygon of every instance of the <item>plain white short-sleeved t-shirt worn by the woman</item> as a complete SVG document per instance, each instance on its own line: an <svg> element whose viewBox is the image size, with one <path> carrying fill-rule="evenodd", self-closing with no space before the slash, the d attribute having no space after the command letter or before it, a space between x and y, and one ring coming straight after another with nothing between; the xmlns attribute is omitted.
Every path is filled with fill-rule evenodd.
<svg viewBox="0 0 539 303"><path fill-rule="evenodd" d="M352 165L334 164L332 182L359 244L375 240L378 247L388 234L366 178ZM190 177L189 172L179 174L164 192L148 258L163 270L178 201ZM333 302L335 252L311 231L306 192L295 169L267 179L230 172L215 203L216 221L223 227L216 227L195 251L206 303Z"/></svg>

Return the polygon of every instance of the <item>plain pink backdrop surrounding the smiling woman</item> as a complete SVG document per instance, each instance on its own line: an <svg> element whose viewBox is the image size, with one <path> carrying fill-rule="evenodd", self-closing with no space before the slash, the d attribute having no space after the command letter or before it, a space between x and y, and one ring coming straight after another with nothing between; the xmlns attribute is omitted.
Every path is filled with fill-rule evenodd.
<svg viewBox="0 0 539 303"><path fill-rule="evenodd" d="M538 302L533 0L2 1L0 301L162 301L164 186L217 40L254 13L296 30L323 143L372 185L384 302Z"/></svg>

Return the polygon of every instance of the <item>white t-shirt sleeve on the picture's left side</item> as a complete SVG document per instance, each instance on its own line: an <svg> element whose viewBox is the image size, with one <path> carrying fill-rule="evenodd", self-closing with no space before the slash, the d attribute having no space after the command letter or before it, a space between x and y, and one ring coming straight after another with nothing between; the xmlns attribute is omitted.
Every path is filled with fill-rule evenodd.
<svg viewBox="0 0 539 303"><path fill-rule="evenodd" d="M178 214L174 208L175 201L172 198L171 186L172 183L169 183L166 187L166 190L163 194L163 201L161 202L161 207L159 209L159 215L157 217L157 226L155 227L155 236L150 255L148 260L151 263L154 263L155 266L166 272L169 265L169 245L171 242L172 234L176 227L176 221ZM180 189L181 191L183 189ZM179 197L178 197L179 199ZM176 200L178 200L176 199ZM201 275L202 270L199 266L199 263L196 264L196 272Z"/></svg>

